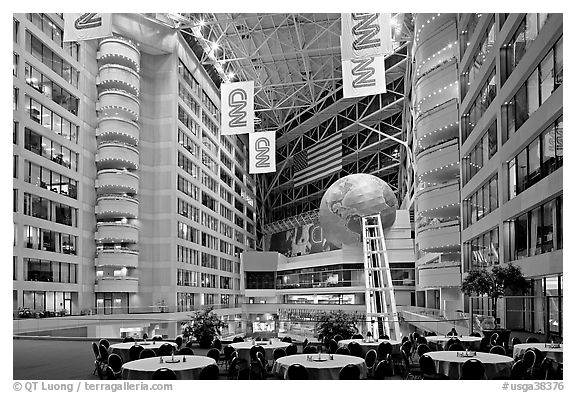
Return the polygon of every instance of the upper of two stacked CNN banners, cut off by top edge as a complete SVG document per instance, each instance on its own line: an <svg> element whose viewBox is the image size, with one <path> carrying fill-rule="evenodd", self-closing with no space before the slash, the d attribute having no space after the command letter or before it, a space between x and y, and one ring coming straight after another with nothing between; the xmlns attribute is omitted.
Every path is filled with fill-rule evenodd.
<svg viewBox="0 0 576 393"><path fill-rule="evenodd" d="M393 51L390 14L342 14L342 60L387 55Z"/></svg>

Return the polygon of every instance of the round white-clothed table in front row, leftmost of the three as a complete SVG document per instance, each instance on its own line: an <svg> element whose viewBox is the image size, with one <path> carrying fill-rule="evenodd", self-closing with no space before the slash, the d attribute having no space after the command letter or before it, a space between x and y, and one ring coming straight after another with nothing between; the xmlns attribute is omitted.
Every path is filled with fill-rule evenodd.
<svg viewBox="0 0 576 393"><path fill-rule="evenodd" d="M186 361L182 361L184 355L175 355L178 363L167 363L172 356L164 356L164 363L160 363L160 357L134 360L124 363L122 366L122 379L152 379L152 374L159 368L174 370L178 379L198 379L202 369L216 361L207 356L185 355Z"/></svg>

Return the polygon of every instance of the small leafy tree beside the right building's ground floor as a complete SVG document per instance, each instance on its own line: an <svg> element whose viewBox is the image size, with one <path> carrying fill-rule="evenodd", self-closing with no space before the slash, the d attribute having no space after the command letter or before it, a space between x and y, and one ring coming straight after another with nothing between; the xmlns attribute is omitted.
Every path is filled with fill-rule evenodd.
<svg viewBox="0 0 576 393"><path fill-rule="evenodd" d="M507 263L487 268L474 269L462 282L461 290L468 296L487 295L492 301L492 316L496 319L496 303L504 296L506 290L525 294L530 283L524 278L518 266Z"/></svg>

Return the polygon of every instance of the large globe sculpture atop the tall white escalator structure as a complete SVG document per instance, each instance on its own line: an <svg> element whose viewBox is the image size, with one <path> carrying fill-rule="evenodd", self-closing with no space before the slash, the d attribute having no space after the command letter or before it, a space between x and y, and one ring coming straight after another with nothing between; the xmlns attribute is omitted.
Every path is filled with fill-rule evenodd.
<svg viewBox="0 0 576 393"><path fill-rule="evenodd" d="M357 173L326 190L320 202L320 225L326 239L341 247L361 240L362 217L380 214L382 227L388 228L396 220L397 208L396 196L384 180Z"/></svg>

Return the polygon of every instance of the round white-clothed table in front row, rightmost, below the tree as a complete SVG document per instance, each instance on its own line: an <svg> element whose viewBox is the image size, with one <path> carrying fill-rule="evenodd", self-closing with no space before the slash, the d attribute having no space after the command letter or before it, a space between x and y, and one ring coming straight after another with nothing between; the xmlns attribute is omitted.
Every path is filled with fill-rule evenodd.
<svg viewBox="0 0 576 393"><path fill-rule="evenodd" d="M514 359L509 356L496 355L493 353L476 352L474 357L459 357L457 353L461 351L438 351L428 352L436 364L436 372L447 375L450 379L459 379L462 365L469 359L478 359L484 363L485 378L510 377L510 370Z"/></svg>

